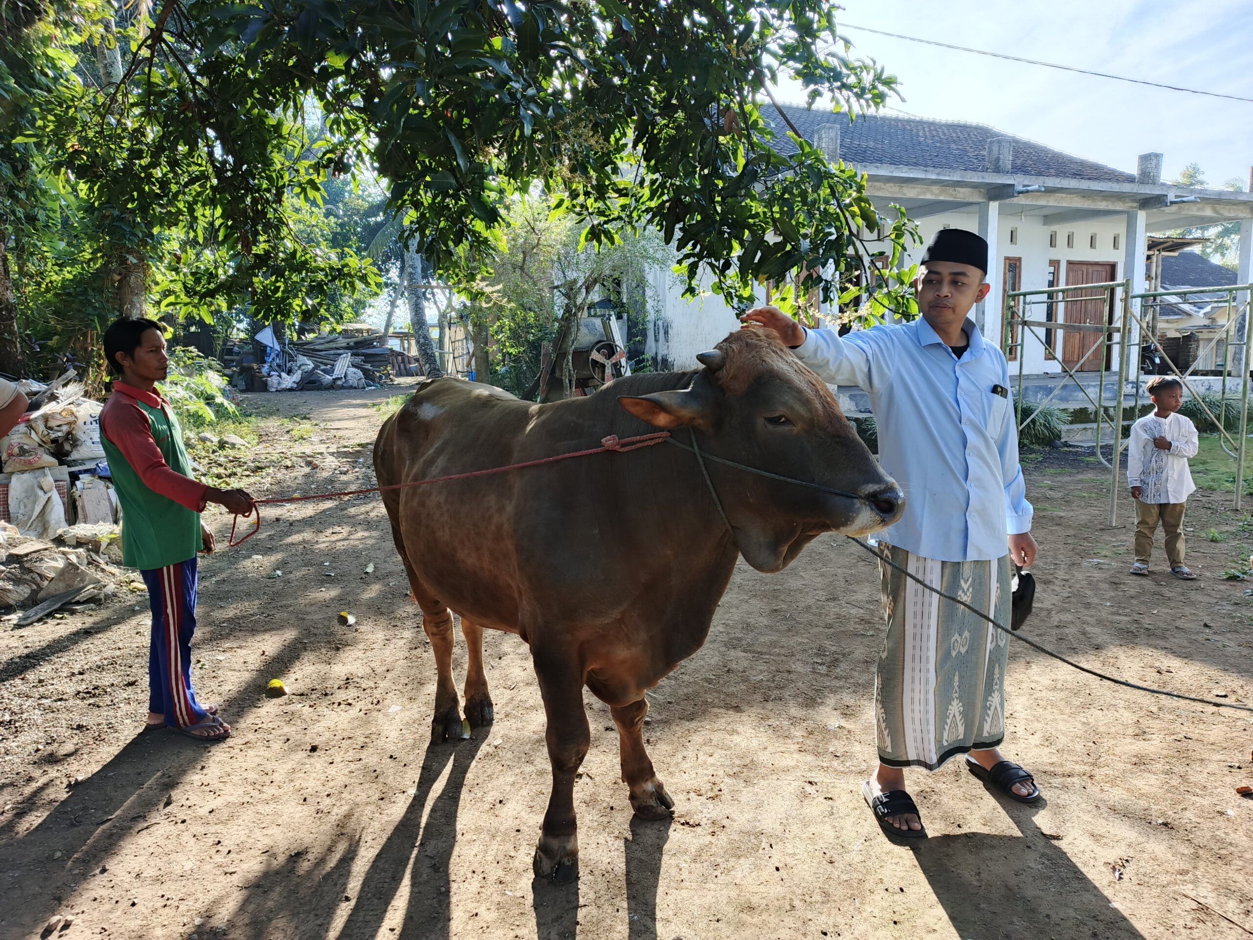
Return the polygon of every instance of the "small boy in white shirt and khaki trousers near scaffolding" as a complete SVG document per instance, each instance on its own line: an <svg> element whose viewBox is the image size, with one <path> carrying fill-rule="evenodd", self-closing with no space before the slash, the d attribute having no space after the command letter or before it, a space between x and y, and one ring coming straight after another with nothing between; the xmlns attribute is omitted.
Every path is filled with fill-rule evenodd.
<svg viewBox="0 0 1253 940"><path fill-rule="evenodd" d="M1167 535L1170 574L1192 582L1197 575L1183 563L1183 515L1188 496L1197 489L1188 470L1188 457L1197 456L1197 427L1179 414L1183 382L1172 376L1149 380L1149 397L1157 405L1131 426L1126 449L1126 485L1135 498L1135 564L1131 574L1149 573L1153 536L1158 523Z"/></svg>

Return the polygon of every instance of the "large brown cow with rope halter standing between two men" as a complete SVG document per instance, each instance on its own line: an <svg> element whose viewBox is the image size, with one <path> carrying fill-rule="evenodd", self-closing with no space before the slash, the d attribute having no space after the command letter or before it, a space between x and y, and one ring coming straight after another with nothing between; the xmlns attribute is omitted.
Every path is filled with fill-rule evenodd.
<svg viewBox="0 0 1253 940"><path fill-rule="evenodd" d="M737 555L779 572L824 531L866 534L901 514L900 490L831 390L773 332L741 331L700 361L695 372L630 376L548 405L436 379L378 431L382 486L663 427L684 442L695 434L710 455L862 494L836 496L708 461L728 531L697 457L669 444L383 494L439 669L432 739L461 737L450 608L470 648L471 726L494 717L484 627L531 648L553 763L535 852L544 877L566 881L578 871L574 775L589 742L583 686L613 712L635 812L668 816L674 802L644 751L644 691L704 643Z"/></svg>

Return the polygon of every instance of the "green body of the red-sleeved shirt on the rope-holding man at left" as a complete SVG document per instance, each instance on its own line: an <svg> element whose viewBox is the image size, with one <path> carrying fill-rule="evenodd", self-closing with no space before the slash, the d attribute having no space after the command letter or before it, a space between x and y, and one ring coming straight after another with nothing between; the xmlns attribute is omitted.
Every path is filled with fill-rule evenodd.
<svg viewBox="0 0 1253 940"><path fill-rule="evenodd" d="M192 476L192 461L183 449L183 429L178 426L178 419L142 401L135 404L148 415L153 440L169 469ZM100 435L100 444L109 459L109 473L122 504L123 564L147 572L195 558L202 548L200 514L148 489L107 435Z"/></svg>

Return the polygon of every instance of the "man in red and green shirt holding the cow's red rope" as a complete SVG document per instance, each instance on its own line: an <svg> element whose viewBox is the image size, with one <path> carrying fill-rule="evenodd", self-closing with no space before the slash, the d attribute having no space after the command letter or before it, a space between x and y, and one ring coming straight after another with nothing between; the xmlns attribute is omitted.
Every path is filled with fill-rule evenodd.
<svg viewBox="0 0 1253 940"><path fill-rule="evenodd" d="M205 504L248 515L252 496L192 478L182 429L157 391L169 365L159 323L117 321L104 333L104 356L117 379L100 412L100 442L122 503L122 555L143 575L153 614L145 731L223 741L231 727L192 688L195 553L213 551L213 534L200 524Z"/></svg>

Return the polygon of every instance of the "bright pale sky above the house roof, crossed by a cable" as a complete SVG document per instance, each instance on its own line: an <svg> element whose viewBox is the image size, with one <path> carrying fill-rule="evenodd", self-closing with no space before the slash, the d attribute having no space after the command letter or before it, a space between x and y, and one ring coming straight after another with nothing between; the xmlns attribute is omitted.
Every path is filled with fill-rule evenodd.
<svg viewBox="0 0 1253 940"><path fill-rule="evenodd" d="M1253 98L1248 0L843 0L837 21L1096 71ZM1253 102L1169 91L841 29L853 55L900 79L887 114L989 124L1135 172L1164 154L1163 179L1200 164L1209 185L1253 165ZM782 100L803 102L783 80ZM816 105L821 107L821 105Z"/></svg>

